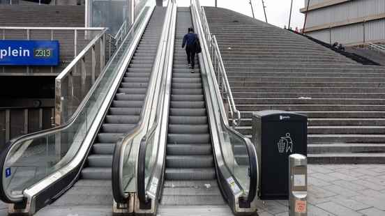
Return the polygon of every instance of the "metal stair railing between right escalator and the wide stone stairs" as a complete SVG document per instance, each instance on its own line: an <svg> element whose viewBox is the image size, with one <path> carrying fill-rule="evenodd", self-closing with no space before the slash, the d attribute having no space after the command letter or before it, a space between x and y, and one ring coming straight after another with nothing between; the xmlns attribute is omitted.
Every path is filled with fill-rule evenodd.
<svg viewBox="0 0 385 216"><path fill-rule="evenodd" d="M232 95L232 89L229 84L229 79L227 79L225 65L223 64L222 56L220 55L220 49L216 40L216 36L211 35L210 33L209 23L207 22L206 13L204 13L204 8L199 8L201 8L199 11L199 16L202 20L204 37L206 38L207 45L209 46L210 57L213 63L214 72L216 73L216 78L220 93L222 95L222 100L228 103L228 106L226 106L229 108L228 117L232 119L232 126L235 127L236 125L239 125L239 121L241 121L241 112L236 109L236 105Z"/></svg>

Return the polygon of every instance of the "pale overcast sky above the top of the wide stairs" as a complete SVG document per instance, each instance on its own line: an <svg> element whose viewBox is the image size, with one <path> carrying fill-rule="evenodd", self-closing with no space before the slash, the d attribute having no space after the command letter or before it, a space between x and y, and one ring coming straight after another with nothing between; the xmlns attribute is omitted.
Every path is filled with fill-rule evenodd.
<svg viewBox="0 0 385 216"><path fill-rule="evenodd" d="M189 6L190 0L176 0L178 6ZM218 7L229 8L239 13L243 13L252 17L250 0L217 0ZM262 8L262 0L251 0L254 8L255 18L264 21L264 9ZM293 12L292 12L292 24L295 29L296 26L299 29L303 27L303 14L299 12L300 8L303 8L305 1L293 0ZM215 0L200 0L202 6L214 6ZM275 26L287 26L289 23L290 3L291 0L264 0L266 6L267 21Z"/></svg>

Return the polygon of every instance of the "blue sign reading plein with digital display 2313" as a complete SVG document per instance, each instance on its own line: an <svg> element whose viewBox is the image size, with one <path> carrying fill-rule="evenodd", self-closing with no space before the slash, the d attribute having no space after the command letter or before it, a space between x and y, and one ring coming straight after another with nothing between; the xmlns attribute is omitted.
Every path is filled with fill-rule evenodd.
<svg viewBox="0 0 385 216"><path fill-rule="evenodd" d="M0 40L0 65L59 65L59 41Z"/></svg>

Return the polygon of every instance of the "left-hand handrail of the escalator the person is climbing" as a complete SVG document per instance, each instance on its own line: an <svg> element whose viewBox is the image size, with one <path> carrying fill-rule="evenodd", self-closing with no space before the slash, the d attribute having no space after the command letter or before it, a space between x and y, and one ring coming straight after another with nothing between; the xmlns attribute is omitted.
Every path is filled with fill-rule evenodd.
<svg viewBox="0 0 385 216"><path fill-rule="evenodd" d="M163 78L165 80L163 81L164 83L162 84L163 88L160 91L160 94L162 94L163 97L159 98L158 107L157 107L157 111L156 111L156 116L157 116L156 122L154 123L153 127L149 130L149 132L147 132L146 136L144 137L144 139L142 140L142 142L140 144L139 155L138 155L138 160L137 160L138 161L137 195L138 195L139 201L144 203L144 204L149 202L149 199L147 198L147 194L146 194L146 180L145 180L145 178L146 178L145 164L146 164L146 149L147 149L146 146L148 144L147 141L148 141L148 138L153 136L153 134L157 130L160 130L160 123L161 123L161 121L163 121L163 118L160 115L162 114L162 111L166 109L163 105L163 102L165 102L164 101L165 100L165 94L167 93L167 77L168 77L169 73L172 71L172 58L173 58L174 45L171 45L170 43L173 43L174 37L172 37L172 33L175 33L175 26L171 26L171 25L173 22L175 22L175 19L176 19L176 1L175 0L169 1L169 6L171 8L174 7L175 15L173 16L173 13L171 13L170 19L167 22L167 24L168 24L167 29L169 29L169 33L167 33L167 36L168 36L167 47L169 47L169 49L166 53L166 59L165 59L165 62L167 62L167 63L165 63L165 67L163 69L163 74L164 74ZM171 60L171 63L170 63L170 60ZM164 154L164 152L158 151L157 155L161 154L161 153ZM154 155L151 155L151 156L154 156ZM151 182L151 179L153 178L153 176L155 174L154 171L153 171L153 173L151 173L151 177L149 177L149 181L147 184L149 184Z"/></svg>

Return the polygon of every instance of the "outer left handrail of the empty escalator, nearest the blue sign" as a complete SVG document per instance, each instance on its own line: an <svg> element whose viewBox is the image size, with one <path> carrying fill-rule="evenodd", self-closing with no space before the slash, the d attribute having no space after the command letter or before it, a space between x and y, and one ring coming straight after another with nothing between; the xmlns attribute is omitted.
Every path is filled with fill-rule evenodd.
<svg viewBox="0 0 385 216"><path fill-rule="evenodd" d="M143 11L144 10L142 10L142 12ZM131 33L133 33L133 31L135 31L135 26L136 25L137 25L137 22L135 22L130 27L130 30L126 34L126 38ZM104 31L101 31L100 33L98 33L98 36L96 36L93 40L91 40L91 42L89 44L95 43L99 38L101 38L103 36L103 34L107 30L108 29L105 29ZM74 114L68 119L68 121L66 121L66 123L63 123L62 125L58 125L58 126L56 126L54 128L49 128L49 129L41 130L41 131L38 131L38 132L32 132L30 134L24 134L24 135L22 135L20 137L15 137L14 139L11 139L10 141L8 141L8 143L6 144L6 148L1 152L1 155L0 155L0 171L1 171L1 175L0 175L0 177L1 177L0 199L2 201L6 202L6 203L17 203L17 202L22 201L22 199L24 198L24 196L19 196L19 197L16 197L15 199L11 198L10 196L8 196L5 188L3 187L3 173L5 173L4 172L5 163L6 163L6 160L8 158L8 154L10 153L10 151L13 148L15 148L15 146L17 144L20 144L20 143L23 144L25 141L28 141L28 140L31 140L31 139L36 139L38 137L45 137L47 135L55 134L56 132L60 132L60 131L63 131L63 130L66 130L66 129L70 128L73 125L73 123L75 123L75 121L80 116L80 114L82 114L82 111L83 111L83 109L85 109L85 106L86 106L87 102L89 102L91 96L93 95L93 93L98 88L102 78L104 77L105 73L107 72L107 69L110 68L112 60L116 58L116 55L119 53L119 49L121 49L122 45L123 45L123 43L119 46L118 49L116 49L116 52L114 53L112 58L107 62L107 65L105 66L103 71L100 72L100 75L96 79L96 81L93 84L93 86L91 86L89 92L84 96L84 99L82 100L80 105L77 107L77 109L75 110ZM32 187L32 186L33 185L31 185L30 187Z"/></svg>

